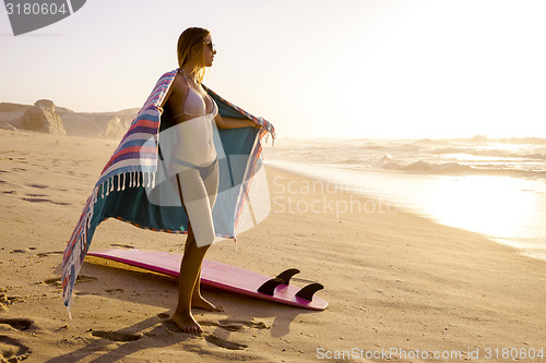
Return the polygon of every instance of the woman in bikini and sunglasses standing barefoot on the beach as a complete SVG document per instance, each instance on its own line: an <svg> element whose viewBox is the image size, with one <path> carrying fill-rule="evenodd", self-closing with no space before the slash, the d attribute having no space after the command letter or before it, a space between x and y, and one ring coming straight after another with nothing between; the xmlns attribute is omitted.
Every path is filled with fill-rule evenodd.
<svg viewBox="0 0 546 363"><path fill-rule="evenodd" d="M169 176L189 218L178 305L171 319L182 331L193 335L203 329L193 318L192 307L223 311L203 299L200 291L201 265L215 237L212 208L218 189L218 162L213 130L256 126L250 120L222 118L216 104L201 86L204 69L212 66L215 55L209 31L186 29L178 39L180 68L162 105L171 116L173 130L178 136Z"/></svg>

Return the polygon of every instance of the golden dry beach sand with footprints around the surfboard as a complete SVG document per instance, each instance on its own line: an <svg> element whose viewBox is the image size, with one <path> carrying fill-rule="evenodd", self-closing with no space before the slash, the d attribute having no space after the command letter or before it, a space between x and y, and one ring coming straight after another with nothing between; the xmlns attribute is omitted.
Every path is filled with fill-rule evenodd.
<svg viewBox="0 0 546 363"><path fill-rule="evenodd" d="M546 348L545 262L402 211L336 217L320 209L324 201L367 199L320 193L320 183L273 168L266 169L271 215L241 233L237 249L219 242L207 258L266 275L297 267L295 285L325 286L318 293L330 303L325 311L206 289L205 298L225 312L198 312L206 334L192 337L174 331L167 318L175 280L88 257L70 320L60 298L61 253L116 146L0 130L0 361L307 362L343 351L336 361L366 361L355 359L357 351L385 361L381 350L402 349L408 358L390 361L428 362L423 351L461 351L442 361L491 362L496 352L487 360L488 348L499 354ZM283 191L288 182L294 193ZM311 205L317 213L304 213ZM183 241L108 220L91 249L181 253ZM468 349L479 358L471 359Z"/></svg>

